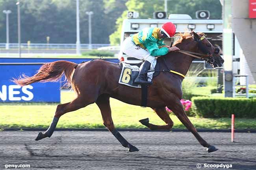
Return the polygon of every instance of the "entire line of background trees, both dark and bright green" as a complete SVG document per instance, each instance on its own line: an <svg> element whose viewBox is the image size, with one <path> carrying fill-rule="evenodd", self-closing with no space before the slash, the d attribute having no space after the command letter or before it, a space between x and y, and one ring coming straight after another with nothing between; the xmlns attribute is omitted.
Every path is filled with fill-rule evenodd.
<svg viewBox="0 0 256 170"><path fill-rule="evenodd" d="M17 0L0 0L0 11L9 9L10 42L18 42ZM140 18L152 18L164 10L163 0L80 0L80 39L88 43L88 15L92 15L92 43L120 43L122 21L127 11L137 11ZM195 18L195 11L206 9L210 18L221 18L219 0L171 0L168 14L184 13ZM76 43L76 0L20 0L21 42ZM110 36L109 36L110 35ZM0 42L6 42L6 17L0 15Z"/></svg>

